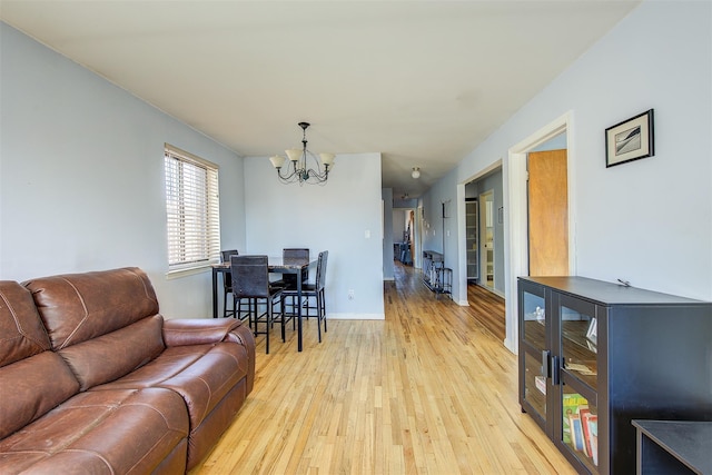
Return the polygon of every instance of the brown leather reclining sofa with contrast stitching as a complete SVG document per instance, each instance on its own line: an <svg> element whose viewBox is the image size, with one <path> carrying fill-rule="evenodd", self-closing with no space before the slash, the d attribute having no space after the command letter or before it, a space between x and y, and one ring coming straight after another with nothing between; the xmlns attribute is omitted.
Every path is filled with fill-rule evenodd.
<svg viewBox="0 0 712 475"><path fill-rule="evenodd" d="M0 281L0 474L185 473L254 378L249 328L164 320L138 268Z"/></svg>

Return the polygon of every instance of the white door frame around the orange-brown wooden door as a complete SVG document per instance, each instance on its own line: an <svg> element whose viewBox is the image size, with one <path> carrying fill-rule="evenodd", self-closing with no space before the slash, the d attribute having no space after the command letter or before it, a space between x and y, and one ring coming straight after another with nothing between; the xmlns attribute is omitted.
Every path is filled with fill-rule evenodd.
<svg viewBox="0 0 712 475"><path fill-rule="evenodd" d="M508 253L504 256L505 267L505 295L506 295L506 336L504 345L513 353L518 352L518 304L516 298L516 279L518 276L528 275L528 222L527 222L527 191L526 191L526 155L534 148L552 139L566 133L567 176L568 176L568 274L576 275L576 221L573 210L575 206L575 147L573 112L568 111L554 121L535 131L524 140L511 147L505 164L507 177L508 218L505 230L505 248ZM507 243L508 241L508 243Z"/></svg>

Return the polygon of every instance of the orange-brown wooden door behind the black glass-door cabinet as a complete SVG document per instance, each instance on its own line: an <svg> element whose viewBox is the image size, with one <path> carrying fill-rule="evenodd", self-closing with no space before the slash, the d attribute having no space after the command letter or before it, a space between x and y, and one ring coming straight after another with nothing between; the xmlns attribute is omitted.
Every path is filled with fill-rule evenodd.
<svg viewBox="0 0 712 475"><path fill-rule="evenodd" d="M530 276L568 275L566 150L530 152Z"/></svg>

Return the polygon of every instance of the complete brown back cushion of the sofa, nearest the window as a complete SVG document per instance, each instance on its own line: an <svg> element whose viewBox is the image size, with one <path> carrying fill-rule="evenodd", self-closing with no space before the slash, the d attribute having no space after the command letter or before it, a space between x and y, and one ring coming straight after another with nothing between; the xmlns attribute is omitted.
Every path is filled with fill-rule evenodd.
<svg viewBox="0 0 712 475"><path fill-rule="evenodd" d="M81 390L130 373L165 348L158 300L139 268L44 277L24 286Z"/></svg>

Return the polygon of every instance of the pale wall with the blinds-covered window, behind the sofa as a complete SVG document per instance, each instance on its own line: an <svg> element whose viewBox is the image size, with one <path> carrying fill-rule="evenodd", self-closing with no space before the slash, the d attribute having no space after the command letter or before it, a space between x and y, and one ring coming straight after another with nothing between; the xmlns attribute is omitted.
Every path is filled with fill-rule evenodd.
<svg viewBox="0 0 712 475"><path fill-rule="evenodd" d="M167 280L164 144L220 167L224 247L245 247L235 154L0 23L0 278L138 266L167 317L211 315L210 274Z"/></svg>

